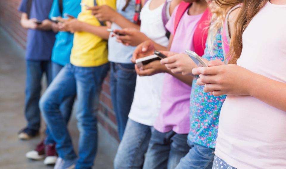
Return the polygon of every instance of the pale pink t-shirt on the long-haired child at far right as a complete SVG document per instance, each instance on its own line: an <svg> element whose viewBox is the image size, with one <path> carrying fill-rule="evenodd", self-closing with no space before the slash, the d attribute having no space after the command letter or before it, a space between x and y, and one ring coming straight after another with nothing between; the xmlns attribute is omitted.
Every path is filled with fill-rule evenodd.
<svg viewBox="0 0 286 169"><path fill-rule="evenodd" d="M243 33L237 65L286 83L285 19L286 5L268 2ZM251 96L227 96L215 154L235 168L285 169L286 112Z"/></svg>

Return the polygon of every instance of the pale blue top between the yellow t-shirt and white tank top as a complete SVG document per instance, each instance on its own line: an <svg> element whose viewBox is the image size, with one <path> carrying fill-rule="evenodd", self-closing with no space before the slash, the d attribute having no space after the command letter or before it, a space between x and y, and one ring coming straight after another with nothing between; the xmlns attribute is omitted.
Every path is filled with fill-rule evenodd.
<svg viewBox="0 0 286 169"><path fill-rule="evenodd" d="M117 0L116 9L117 13L124 16L129 21L133 21L135 14L135 0L131 0L128 7L125 11L122 11L122 8L125 6L126 0ZM111 29L122 29L117 24L112 23ZM108 39L108 60L116 63L132 63L130 61L132 54L136 46L125 46L122 43L116 42L115 37L111 37L111 34Z"/></svg>

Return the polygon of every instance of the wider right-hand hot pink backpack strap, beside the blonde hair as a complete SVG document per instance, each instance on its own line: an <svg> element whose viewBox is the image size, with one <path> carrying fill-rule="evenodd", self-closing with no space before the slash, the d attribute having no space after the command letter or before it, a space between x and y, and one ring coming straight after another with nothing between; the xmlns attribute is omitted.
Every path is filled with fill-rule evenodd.
<svg viewBox="0 0 286 169"><path fill-rule="evenodd" d="M209 24L212 18L212 14L209 11L209 8L205 10L202 17L198 21L197 27L194 32L193 44L195 52L202 56L206 48L206 39L208 37Z"/></svg>

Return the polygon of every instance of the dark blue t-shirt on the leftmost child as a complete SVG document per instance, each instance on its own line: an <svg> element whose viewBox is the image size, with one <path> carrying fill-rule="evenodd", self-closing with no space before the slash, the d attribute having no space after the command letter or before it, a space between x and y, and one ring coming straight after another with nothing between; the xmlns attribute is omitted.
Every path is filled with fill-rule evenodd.
<svg viewBox="0 0 286 169"><path fill-rule="evenodd" d="M28 0L22 0L19 11L28 13ZM53 0L32 0L30 17L40 21L49 19L49 12ZM55 33L52 30L42 31L29 29L27 34L26 59L35 61L49 61L55 42Z"/></svg>

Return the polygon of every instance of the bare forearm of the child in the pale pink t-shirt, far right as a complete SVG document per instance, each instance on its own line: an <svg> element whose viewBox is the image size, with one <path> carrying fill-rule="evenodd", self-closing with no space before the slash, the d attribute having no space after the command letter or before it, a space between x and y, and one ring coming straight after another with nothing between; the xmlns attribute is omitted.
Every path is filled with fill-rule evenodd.
<svg viewBox="0 0 286 169"><path fill-rule="evenodd" d="M251 76L251 83L248 83L249 95L286 111L286 83L278 82L259 74L254 75Z"/></svg>

